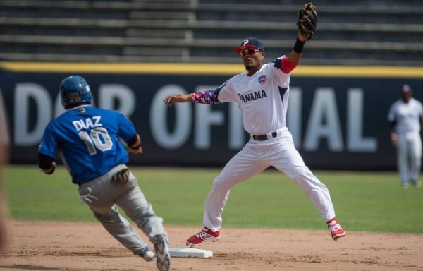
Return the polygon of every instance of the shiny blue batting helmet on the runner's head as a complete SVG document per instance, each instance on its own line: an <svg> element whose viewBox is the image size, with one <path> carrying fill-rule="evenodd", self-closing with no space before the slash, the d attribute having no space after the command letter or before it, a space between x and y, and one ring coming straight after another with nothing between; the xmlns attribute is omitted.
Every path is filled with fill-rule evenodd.
<svg viewBox="0 0 423 271"><path fill-rule="evenodd" d="M63 79L59 87L59 92L61 104L65 108L82 102L91 104L90 86L81 76L69 76Z"/></svg>

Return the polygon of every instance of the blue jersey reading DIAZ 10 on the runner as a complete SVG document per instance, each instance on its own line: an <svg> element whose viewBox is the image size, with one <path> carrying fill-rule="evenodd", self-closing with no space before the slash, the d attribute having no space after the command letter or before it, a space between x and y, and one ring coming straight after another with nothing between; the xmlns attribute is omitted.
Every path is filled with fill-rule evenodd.
<svg viewBox="0 0 423 271"><path fill-rule="evenodd" d="M86 183L129 161L118 138L128 141L136 135L133 124L123 114L90 105L67 110L50 121L38 152L62 155L73 183Z"/></svg>

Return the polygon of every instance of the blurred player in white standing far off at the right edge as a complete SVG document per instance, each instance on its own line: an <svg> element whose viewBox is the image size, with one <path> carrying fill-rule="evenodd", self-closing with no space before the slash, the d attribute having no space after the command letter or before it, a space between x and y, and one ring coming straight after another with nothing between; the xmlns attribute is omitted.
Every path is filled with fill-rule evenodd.
<svg viewBox="0 0 423 271"><path fill-rule="evenodd" d="M408 188L412 183L417 188L422 165L422 139L420 129L423 125L422 103L412 97L409 85L401 88L401 98L391 105L388 113L391 126L391 143L397 149L397 167L401 185Z"/></svg>

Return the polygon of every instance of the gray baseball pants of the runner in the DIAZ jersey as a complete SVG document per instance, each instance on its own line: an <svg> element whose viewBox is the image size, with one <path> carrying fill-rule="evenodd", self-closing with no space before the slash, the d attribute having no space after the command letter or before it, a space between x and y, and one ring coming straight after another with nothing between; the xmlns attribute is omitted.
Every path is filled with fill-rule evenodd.
<svg viewBox="0 0 423 271"><path fill-rule="evenodd" d="M167 239L167 234L163 227L163 219L154 213L151 203L145 199L132 172L129 172L128 183L111 182L111 177L125 168L125 164L118 165L103 176L82 184L78 191L80 195L85 195L88 193L88 188L92 189L91 194L98 200L92 200L92 203L87 205L90 206L94 216L109 234L138 255L147 243L140 238L128 220L119 214L116 205L137 224L150 241L157 234L162 234Z"/></svg>

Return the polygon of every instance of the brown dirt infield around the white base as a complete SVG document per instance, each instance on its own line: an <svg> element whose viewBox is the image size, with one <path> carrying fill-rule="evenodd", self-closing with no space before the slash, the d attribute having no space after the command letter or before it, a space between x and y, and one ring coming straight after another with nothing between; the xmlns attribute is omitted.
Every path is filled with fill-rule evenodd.
<svg viewBox="0 0 423 271"><path fill-rule="evenodd" d="M198 227L165 225L171 247L185 247ZM140 232L140 231L139 231ZM145 237L142 233L140 236ZM422 234L223 228L202 249L213 258L172 258L171 270L423 270ZM3 270L157 270L113 239L99 223L9 222Z"/></svg>

